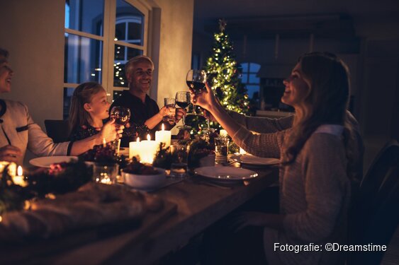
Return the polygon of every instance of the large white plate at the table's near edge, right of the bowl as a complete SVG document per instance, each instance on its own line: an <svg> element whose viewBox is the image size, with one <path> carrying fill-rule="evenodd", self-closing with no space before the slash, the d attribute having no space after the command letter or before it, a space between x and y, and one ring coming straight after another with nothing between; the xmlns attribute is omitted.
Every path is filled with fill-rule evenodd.
<svg viewBox="0 0 399 265"><path fill-rule="evenodd" d="M209 177L210 179L226 181L252 179L258 176L257 172L254 172L252 170L246 170L245 168L240 167L198 167L196 168L196 170L194 170L194 172L196 173L196 175L200 175L202 177Z"/></svg>

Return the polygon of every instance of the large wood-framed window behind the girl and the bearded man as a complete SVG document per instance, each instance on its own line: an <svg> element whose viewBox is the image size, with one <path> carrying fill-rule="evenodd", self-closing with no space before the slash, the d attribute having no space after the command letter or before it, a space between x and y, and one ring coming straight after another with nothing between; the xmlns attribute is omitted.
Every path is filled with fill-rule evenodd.
<svg viewBox="0 0 399 265"><path fill-rule="evenodd" d="M64 118L79 83L101 83L108 95L128 87L126 62L147 54L149 11L140 0L65 1Z"/></svg>

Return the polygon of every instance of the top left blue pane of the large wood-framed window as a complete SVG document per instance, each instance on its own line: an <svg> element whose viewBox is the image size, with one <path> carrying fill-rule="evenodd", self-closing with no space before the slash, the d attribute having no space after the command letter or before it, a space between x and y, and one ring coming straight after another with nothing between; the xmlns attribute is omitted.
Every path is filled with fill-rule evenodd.
<svg viewBox="0 0 399 265"><path fill-rule="evenodd" d="M65 28L103 35L103 0L66 0Z"/></svg>

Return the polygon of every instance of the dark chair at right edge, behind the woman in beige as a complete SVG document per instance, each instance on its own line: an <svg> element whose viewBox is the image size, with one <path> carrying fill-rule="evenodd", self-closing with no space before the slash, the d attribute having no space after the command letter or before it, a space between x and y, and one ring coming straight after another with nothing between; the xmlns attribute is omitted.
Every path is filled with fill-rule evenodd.
<svg viewBox="0 0 399 265"><path fill-rule="evenodd" d="M378 153L349 213L352 245L388 245L399 223L399 144ZM354 252L348 264L379 264L383 252Z"/></svg>

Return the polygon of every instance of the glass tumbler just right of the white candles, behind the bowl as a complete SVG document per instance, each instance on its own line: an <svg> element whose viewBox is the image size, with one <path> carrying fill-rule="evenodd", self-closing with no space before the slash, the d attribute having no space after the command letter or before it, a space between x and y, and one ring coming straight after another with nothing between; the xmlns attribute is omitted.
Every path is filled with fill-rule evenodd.
<svg viewBox="0 0 399 265"><path fill-rule="evenodd" d="M171 177L186 177L189 163L189 146L183 143L174 143L172 146Z"/></svg>

